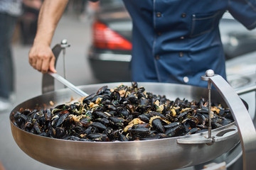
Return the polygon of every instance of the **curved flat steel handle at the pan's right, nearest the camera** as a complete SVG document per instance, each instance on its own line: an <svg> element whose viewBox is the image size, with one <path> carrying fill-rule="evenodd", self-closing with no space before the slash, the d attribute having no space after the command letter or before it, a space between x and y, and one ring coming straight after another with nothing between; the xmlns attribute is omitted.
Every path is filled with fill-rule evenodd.
<svg viewBox="0 0 256 170"><path fill-rule="evenodd" d="M206 76L203 76L202 79L210 81L210 83L215 86L220 96L223 97L225 103L230 108L240 136L243 169L255 169L256 131L245 105L242 103L235 90L231 88L228 82L225 81L223 77L220 77L220 75L213 74L208 76L208 71L206 71Z"/></svg>

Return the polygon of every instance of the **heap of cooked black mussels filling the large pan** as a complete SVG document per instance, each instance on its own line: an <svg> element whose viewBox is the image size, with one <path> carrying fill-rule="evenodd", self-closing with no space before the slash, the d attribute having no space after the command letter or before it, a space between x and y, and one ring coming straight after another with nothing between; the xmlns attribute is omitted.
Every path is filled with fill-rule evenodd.
<svg viewBox="0 0 256 170"><path fill-rule="evenodd" d="M233 122L227 108L212 103L212 128ZM191 135L208 130L208 101L187 101L146 92L144 87L102 86L81 102L13 113L14 124L33 134L64 140L131 141Z"/></svg>

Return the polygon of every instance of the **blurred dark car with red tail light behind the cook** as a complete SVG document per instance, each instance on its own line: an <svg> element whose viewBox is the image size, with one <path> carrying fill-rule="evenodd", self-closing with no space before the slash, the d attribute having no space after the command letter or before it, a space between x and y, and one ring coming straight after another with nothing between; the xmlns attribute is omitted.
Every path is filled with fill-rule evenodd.
<svg viewBox="0 0 256 170"><path fill-rule="evenodd" d="M130 81L132 20L121 0L100 1L92 24L90 67L100 82Z"/></svg>

